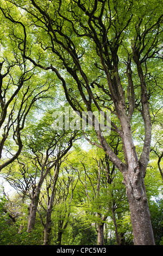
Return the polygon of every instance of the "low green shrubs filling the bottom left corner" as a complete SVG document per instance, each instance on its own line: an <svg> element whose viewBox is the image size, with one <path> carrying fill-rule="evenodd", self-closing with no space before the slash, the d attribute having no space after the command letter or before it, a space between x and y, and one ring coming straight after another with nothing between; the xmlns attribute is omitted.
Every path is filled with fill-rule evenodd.
<svg viewBox="0 0 163 256"><path fill-rule="evenodd" d="M26 231L27 206L23 205L21 200L18 202L17 198L12 200L9 201L5 197L0 200L0 245L41 245L42 230L40 227L36 228L32 233L27 233ZM11 214L17 216L15 222L12 221ZM19 234L20 225L23 225L23 229Z"/></svg>

